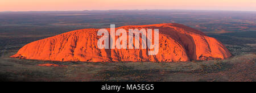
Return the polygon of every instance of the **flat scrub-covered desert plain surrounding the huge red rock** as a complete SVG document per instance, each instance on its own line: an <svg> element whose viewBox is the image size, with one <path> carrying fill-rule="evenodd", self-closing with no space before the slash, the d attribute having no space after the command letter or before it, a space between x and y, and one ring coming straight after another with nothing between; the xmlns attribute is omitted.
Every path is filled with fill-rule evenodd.
<svg viewBox="0 0 256 93"><path fill-rule="evenodd" d="M237 11L0 12L0 81L255 82L255 18L255 12ZM75 29L157 23L181 23L204 32L213 31L208 36L224 43L233 56L225 60L180 63L87 63L9 58L25 44ZM214 33L221 30L228 33Z"/></svg>

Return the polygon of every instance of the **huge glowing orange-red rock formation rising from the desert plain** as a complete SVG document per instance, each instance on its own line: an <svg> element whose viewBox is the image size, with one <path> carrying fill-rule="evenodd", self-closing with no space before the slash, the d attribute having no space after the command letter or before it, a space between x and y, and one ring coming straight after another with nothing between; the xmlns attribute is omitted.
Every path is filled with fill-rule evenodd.
<svg viewBox="0 0 256 93"><path fill-rule="evenodd" d="M34 41L21 48L14 58L50 61L85 62L178 62L189 60L224 59L231 56L220 41L203 32L176 23L123 26L115 30L159 29L159 52L154 56L148 49L99 49L98 29L79 29ZM108 28L108 31L110 29ZM116 39L118 36L115 36Z"/></svg>

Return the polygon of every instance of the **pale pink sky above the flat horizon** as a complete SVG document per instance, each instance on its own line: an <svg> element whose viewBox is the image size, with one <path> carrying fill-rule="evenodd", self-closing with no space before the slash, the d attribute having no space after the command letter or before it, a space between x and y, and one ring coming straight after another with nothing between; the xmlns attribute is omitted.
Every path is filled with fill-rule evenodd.
<svg viewBox="0 0 256 93"><path fill-rule="evenodd" d="M256 11L256 0L0 0L0 11L134 9Z"/></svg>

